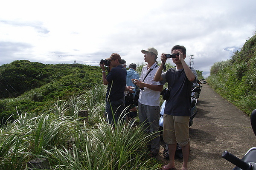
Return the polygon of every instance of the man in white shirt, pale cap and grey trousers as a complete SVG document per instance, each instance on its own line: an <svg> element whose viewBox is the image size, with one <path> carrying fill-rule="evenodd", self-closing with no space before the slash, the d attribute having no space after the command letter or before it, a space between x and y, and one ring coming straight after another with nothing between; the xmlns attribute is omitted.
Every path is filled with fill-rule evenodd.
<svg viewBox="0 0 256 170"><path fill-rule="evenodd" d="M143 123L144 129L148 133L154 133L148 142L149 156L154 157L160 149L160 134L158 121L160 119L160 91L163 85L154 81L154 75L157 72L157 50L150 47L141 51L144 54L144 61L147 62L142 68L140 79L132 79L140 88L139 97L139 118ZM143 89L144 88L144 89Z"/></svg>

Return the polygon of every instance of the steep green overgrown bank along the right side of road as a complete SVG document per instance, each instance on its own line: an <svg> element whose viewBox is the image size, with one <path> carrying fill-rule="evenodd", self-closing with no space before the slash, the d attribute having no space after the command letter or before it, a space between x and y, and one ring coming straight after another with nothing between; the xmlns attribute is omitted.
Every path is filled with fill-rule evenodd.
<svg viewBox="0 0 256 170"><path fill-rule="evenodd" d="M221 96L250 114L256 108L256 34L231 59L214 63L207 80Z"/></svg>

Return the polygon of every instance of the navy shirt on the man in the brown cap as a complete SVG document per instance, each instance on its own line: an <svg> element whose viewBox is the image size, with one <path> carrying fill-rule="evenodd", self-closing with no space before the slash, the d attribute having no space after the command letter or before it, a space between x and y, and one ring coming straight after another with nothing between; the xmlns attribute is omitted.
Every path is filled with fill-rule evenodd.
<svg viewBox="0 0 256 170"><path fill-rule="evenodd" d="M106 101L116 101L124 98L126 86L126 69L118 65L111 69L107 76L108 89Z"/></svg>

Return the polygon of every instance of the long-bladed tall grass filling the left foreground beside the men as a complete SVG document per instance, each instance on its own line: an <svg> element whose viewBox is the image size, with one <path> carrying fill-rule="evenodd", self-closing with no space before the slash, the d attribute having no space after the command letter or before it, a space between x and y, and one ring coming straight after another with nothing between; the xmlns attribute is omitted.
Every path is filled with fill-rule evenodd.
<svg viewBox="0 0 256 170"><path fill-rule="evenodd" d="M0 129L0 170L27 169L34 158L47 158L51 170L155 170L147 157L141 127L105 122L105 86L68 101L59 100L38 116L18 114ZM87 121L77 113L87 109Z"/></svg>

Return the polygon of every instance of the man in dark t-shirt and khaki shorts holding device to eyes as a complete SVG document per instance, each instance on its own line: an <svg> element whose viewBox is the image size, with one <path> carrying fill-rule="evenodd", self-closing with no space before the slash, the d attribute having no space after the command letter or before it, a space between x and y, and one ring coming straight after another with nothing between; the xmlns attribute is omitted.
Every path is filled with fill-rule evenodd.
<svg viewBox="0 0 256 170"><path fill-rule="evenodd" d="M164 165L162 170L175 168L176 144L182 147L183 166L182 170L188 169L189 159L189 117L191 116L191 88L197 81L195 68L189 67L186 62L186 48L181 45L175 45L172 48L172 58L176 68L170 68L162 73L163 62L166 62L166 54L162 54L162 64L154 76L155 81L162 83L168 82L169 99L163 115L163 140L169 146L169 164Z"/></svg>

